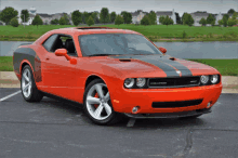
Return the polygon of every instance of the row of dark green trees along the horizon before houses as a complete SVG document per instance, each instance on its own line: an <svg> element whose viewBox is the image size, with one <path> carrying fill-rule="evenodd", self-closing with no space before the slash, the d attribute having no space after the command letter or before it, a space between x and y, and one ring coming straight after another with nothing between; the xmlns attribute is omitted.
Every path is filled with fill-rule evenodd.
<svg viewBox="0 0 238 158"><path fill-rule="evenodd" d="M137 10L136 12L141 12L141 10ZM69 16L66 13L63 13L64 15L57 19L52 19L50 22L51 25L69 25ZM229 18L228 14L233 14L232 18ZM4 22L6 25L12 25L14 27L17 27L18 21L17 21L18 11L14 10L13 8L9 6L2 10L0 13L0 21ZM184 13L182 17L180 17L180 14L175 12L176 23L181 25L188 25L193 26L195 21L193 16L188 13ZM22 10L21 12L21 18L23 23L27 23L29 21L29 12L28 10ZM234 9L230 9L227 14L223 15L223 18L219 21L219 25L223 26L233 26L238 24L238 13L235 12ZM121 25L121 24L131 24L132 23L132 14L127 11L122 11L120 14L116 14L116 12L109 13L107 8L103 8L100 13L97 12L80 12L79 10L76 10L71 13L71 21L75 26L78 26L79 24L87 24L89 26L103 23L115 23L115 25ZM47 22L44 22L45 24ZM173 25L174 22L169 16L160 16L159 23L162 25ZM157 25L157 15L154 11L150 11L149 13L145 13L145 16L140 22L141 25ZM206 26L207 24L210 24L212 26L215 25L215 17L212 14L209 14L207 18L201 18L199 21L199 24L202 26ZM41 17L37 14L31 25L43 25L43 21Z"/></svg>

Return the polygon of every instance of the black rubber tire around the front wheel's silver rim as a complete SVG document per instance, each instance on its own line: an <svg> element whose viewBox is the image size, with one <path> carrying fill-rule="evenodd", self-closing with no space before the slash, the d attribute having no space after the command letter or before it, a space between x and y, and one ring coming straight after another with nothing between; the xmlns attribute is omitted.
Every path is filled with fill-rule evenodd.
<svg viewBox="0 0 238 158"><path fill-rule="evenodd" d="M101 79L95 79L93 81L91 81L88 87L85 88L85 91L84 91L84 95L83 95L83 109L84 109L84 113L87 114L87 116L90 118L90 120L95 123L95 124L100 124L100 126L109 126L109 124L115 124L117 122L119 122L123 117L122 117L122 114L119 114L119 113L116 113L113 108L113 105L111 105L111 102L110 100L108 101L108 105L111 107L111 114L108 116L108 118L104 119L104 120L97 120L95 118L93 118L91 116L91 114L89 113L89 109L87 107L87 96L88 96L88 93L90 91L90 89L95 85L96 83L104 83L103 80ZM105 84L105 83L104 83Z"/></svg>

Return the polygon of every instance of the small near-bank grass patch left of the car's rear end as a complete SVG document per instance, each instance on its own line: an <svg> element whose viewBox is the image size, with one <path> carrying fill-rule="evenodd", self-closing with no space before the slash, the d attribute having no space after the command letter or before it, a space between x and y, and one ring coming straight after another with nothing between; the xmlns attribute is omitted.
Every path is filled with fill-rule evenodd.
<svg viewBox="0 0 238 158"><path fill-rule="evenodd" d="M0 71L13 71L12 56L0 56Z"/></svg>

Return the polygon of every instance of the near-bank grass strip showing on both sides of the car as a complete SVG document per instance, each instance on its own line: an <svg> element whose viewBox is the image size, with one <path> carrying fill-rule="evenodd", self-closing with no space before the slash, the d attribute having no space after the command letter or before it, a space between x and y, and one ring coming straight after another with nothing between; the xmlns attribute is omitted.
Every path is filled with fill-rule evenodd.
<svg viewBox="0 0 238 158"><path fill-rule="evenodd" d="M0 56L0 71L13 71L12 56ZM189 60L216 68L223 76L238 76L238 60Z"/></svg>

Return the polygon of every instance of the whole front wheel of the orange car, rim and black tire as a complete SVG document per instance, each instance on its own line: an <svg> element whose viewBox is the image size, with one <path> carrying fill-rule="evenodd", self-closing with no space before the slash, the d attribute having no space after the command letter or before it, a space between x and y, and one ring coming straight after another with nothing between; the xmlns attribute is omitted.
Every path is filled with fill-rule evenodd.
<svg viewBox="0 0 238 158"><path fill-rule="evenodd" d="M120 120L120 115L114 111L107 85L101 79L93 80L85 88L83 107L96 124L114 124Z"/></svg>

